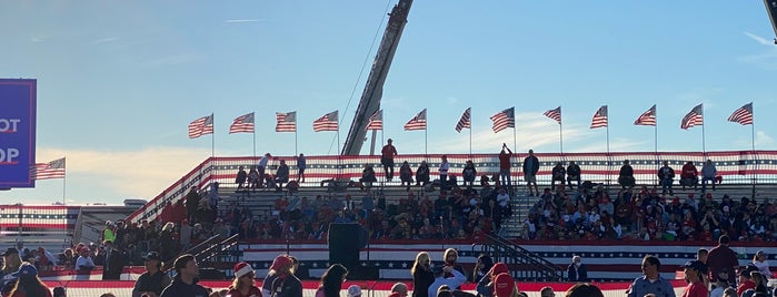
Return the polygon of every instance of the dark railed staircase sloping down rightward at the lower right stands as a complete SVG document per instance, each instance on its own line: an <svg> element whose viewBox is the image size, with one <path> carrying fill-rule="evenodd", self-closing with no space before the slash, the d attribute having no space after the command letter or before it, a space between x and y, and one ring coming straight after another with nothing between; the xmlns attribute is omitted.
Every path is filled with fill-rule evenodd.
<svg viewBox="0 0 777 297"><path fill-rule="evenodd" d="M564 270L519 245L496 234L487 234L481 253L507 264L517 281L562 281Z"/></svg>

